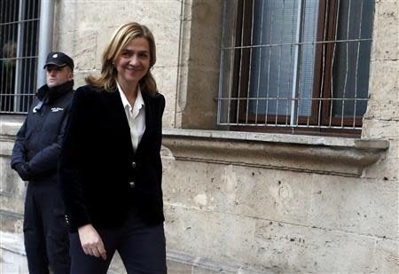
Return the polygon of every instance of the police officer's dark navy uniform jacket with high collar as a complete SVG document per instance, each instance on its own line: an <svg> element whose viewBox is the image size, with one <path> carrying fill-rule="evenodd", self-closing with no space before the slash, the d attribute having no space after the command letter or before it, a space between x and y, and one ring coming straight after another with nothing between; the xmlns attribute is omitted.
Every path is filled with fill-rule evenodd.
<svg viewBox="0 0 399 274"><path fill-rule="evenodd" d="M74 81L37 90L27 119L17 133L11 165L20 173L25 165L25 180L57 182L57 166L66 121L70 111ZM43 105L37 107L39 102Z"/></svg>

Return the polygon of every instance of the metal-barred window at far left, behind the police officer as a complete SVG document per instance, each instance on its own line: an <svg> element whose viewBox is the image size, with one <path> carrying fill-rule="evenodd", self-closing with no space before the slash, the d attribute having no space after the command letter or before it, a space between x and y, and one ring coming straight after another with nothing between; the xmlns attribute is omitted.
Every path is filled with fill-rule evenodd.
<svg viewBox="0 0 399 274"><path fill-rule="evenodd" d="M40 0L0 2L0 112L26 114L36 87Z"/></svg>

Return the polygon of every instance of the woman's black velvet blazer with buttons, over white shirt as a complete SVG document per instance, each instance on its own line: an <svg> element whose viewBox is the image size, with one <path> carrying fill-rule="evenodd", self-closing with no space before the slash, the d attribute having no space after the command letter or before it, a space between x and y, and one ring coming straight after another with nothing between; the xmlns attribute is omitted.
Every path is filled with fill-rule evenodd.
<svg viewBox="0 0 399 274"><path fill-rule="evenodd" d="M136 153L118 90L76 90L59 157L70 231L120 226L131 207L145 223L164 221L160 145L165 98L142 92L145 133Z"/></svg>

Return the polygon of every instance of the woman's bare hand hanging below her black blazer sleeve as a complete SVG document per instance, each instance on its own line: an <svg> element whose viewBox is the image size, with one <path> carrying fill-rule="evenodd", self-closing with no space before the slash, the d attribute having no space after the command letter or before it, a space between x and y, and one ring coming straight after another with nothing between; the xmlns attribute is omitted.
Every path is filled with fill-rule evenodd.
<svg viewBox="0 0 399 274"><path fill-rule="evenodd" d="M103 240L91 223L79 227L78 233L84 254L96 257L101 256L106 260L106 248L104 247Z"/></svg>

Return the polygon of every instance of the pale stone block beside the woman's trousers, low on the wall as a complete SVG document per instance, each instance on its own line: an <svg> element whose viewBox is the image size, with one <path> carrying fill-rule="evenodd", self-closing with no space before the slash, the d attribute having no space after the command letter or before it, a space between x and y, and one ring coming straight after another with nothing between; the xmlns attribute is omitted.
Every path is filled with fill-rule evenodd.
<svg viewBox="0 0 399 274"><path fill-rule="evenodd" d="M169 249L227 265L244 266L249 261L254 245L254 219L184 205L166 207Z"/></svg>

